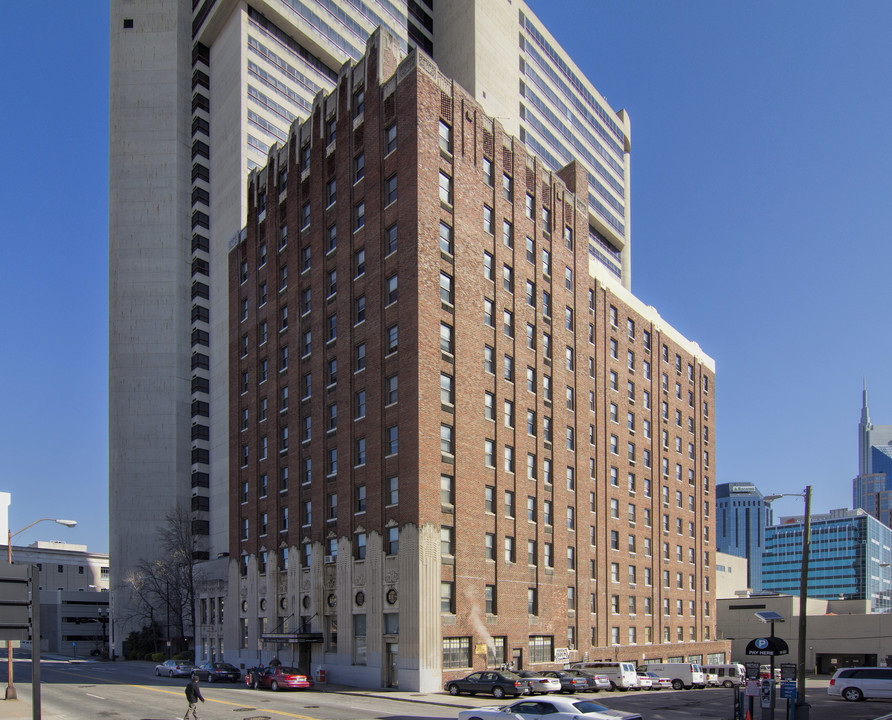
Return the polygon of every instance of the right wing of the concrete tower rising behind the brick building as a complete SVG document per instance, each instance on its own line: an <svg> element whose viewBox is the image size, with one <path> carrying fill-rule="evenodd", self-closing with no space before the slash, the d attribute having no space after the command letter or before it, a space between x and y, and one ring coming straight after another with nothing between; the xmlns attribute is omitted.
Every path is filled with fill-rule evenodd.
<svg viewBox="0 0 892 720"><path fill-rule="evenodd" d="M631 126L626 112L610 108L524 2L437 5L434 60L551 170L571 159L586 168L592 186L589 222L619 251L618 263L611 266L621 266L622 284L630 288ZM591 242L598 247L595 257L603 258L603 245L594 238Z"/></svg>

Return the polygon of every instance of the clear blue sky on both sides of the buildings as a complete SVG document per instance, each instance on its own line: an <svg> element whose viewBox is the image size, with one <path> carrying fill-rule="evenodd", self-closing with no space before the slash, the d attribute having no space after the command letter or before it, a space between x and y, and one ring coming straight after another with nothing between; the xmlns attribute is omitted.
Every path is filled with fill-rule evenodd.
<svg viewBox="0 0 892 720"><path fill-rule="evenodd" d="M892 3L531 0L632 125L632 289L716 361L717 481L851 504L892 424ZM107 551L108 5L0 4L0 490ZM801 501L776 503L780 514Z"/></svg>

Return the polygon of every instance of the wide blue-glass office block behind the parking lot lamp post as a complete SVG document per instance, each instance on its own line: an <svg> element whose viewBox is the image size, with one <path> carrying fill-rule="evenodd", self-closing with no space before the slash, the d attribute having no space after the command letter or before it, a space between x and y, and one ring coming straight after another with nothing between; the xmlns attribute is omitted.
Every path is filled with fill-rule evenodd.
<svg viewBox="0 0 892 720"><path fill-rule="evenodd" d="M803 518L783 517L765 531L762 588L798 595ZM870 600L871 612L892 610L892 530L864 510L811 516L808 596Z"/></svg>

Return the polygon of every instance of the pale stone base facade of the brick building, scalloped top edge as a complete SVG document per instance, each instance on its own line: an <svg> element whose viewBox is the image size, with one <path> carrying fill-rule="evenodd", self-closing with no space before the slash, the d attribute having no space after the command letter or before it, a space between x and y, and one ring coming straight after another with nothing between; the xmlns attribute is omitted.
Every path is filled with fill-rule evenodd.
<svg viewBox="0 0 892 720"><path fill-rule="evenodd" d="M328 682L440 690L440 528L406 525L399 543L399 554L387 555L384 539L371 532L365 559L356 560L352 543L341 538L334 562L323 558L325 548L314 543L311 567L301 568L295 561L286 573L279 572L277 553L269 554L262 572L252 555L244 576L231 560L228 584L238 594L230 594L223 623L197 628L198 661L211 659L208 648L221 646L207 638L225 637L220 657L243 667L278 657L314 675L325 669ZM301 547L289 548L295 559L302 552ZM389 634L384 627L388 615L398 618L398 632ZM364 636L355 634L354 617L368 618ZM264 633L281 635L281 641L264 638ZM311 653L311 644L294 640L296 636L321 637L323 652Z"/></svg>

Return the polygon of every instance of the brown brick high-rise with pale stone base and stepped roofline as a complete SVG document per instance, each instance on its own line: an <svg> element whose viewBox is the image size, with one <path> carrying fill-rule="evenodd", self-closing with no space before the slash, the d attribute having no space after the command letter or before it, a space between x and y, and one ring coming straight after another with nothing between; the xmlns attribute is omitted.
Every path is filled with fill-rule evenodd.
<svg viewBox="0 0 892 720"><path fill-rule="evenodd" d="M590 252L588 182L381 31L251 173L227 659L419 690L727 661L713 361Z"/></svg>

